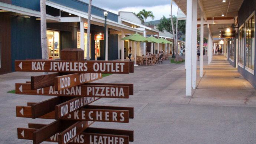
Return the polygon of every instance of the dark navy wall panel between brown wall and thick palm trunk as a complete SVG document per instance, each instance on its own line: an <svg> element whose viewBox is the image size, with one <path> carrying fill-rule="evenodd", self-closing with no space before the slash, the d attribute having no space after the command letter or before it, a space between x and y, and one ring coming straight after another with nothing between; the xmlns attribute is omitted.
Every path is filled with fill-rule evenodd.
<svg viewBox="0 0 256 144"><path fill-rule="evenodd" d="M15 60L42 59L40 21L33 18L11 18L12 71Z"/></svg>

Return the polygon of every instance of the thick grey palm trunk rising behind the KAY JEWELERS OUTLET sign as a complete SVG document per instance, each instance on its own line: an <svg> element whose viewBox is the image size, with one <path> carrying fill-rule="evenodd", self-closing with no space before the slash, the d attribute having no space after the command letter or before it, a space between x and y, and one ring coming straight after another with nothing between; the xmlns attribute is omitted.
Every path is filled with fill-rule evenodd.
<svg viewBox="0 0 256 144"><path fill-rule="evenodd" d="M42 59L49 59L46 34L46 0L40 0Z"/></svg>

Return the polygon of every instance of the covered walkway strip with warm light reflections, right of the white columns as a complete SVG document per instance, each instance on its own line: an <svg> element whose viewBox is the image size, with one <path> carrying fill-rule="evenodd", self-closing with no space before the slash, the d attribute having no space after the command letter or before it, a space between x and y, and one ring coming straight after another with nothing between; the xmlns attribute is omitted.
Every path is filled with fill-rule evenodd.
<svg viewBox="0 0 256 144"><path fill-rule="evenodd" d="M205 59L206 60L206 59ZM204 76L189 103L232 106L256 106L256 90L226 57L213 56L204 63ZM199 74L198 74L199 75Z"/></svg>

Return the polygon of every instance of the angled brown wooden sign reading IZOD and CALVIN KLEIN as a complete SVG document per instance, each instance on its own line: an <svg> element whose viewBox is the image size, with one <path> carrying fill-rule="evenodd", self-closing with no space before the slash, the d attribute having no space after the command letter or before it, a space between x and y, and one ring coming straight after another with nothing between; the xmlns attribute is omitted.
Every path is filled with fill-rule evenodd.
<svg viewBox="0 0 256 144"><path fill-rule="evenodd" d="M75 73L54 78L55 90L64 90L70 87L85 84L102 78L102 74L97 73Z"/></svg>

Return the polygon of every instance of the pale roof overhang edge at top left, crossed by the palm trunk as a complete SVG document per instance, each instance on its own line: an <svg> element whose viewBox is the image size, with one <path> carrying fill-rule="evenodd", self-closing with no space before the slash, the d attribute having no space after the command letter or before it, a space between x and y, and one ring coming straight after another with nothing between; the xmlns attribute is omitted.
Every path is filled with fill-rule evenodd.
<svg viewBox="0 0 256 144"><path fill-rule="evenodd" d="M16 13L28 15L28 16L41 17L40 11L35 11L35 10L27 9L24 7L20 7L20 6L6 4L4 2L0 2L0 9L6 10L6 11L11 11L11 12L16 12ZM48 15L48 14L46 15L46 19L52 20L52 21L59 21L59 18Z"/></svg>

